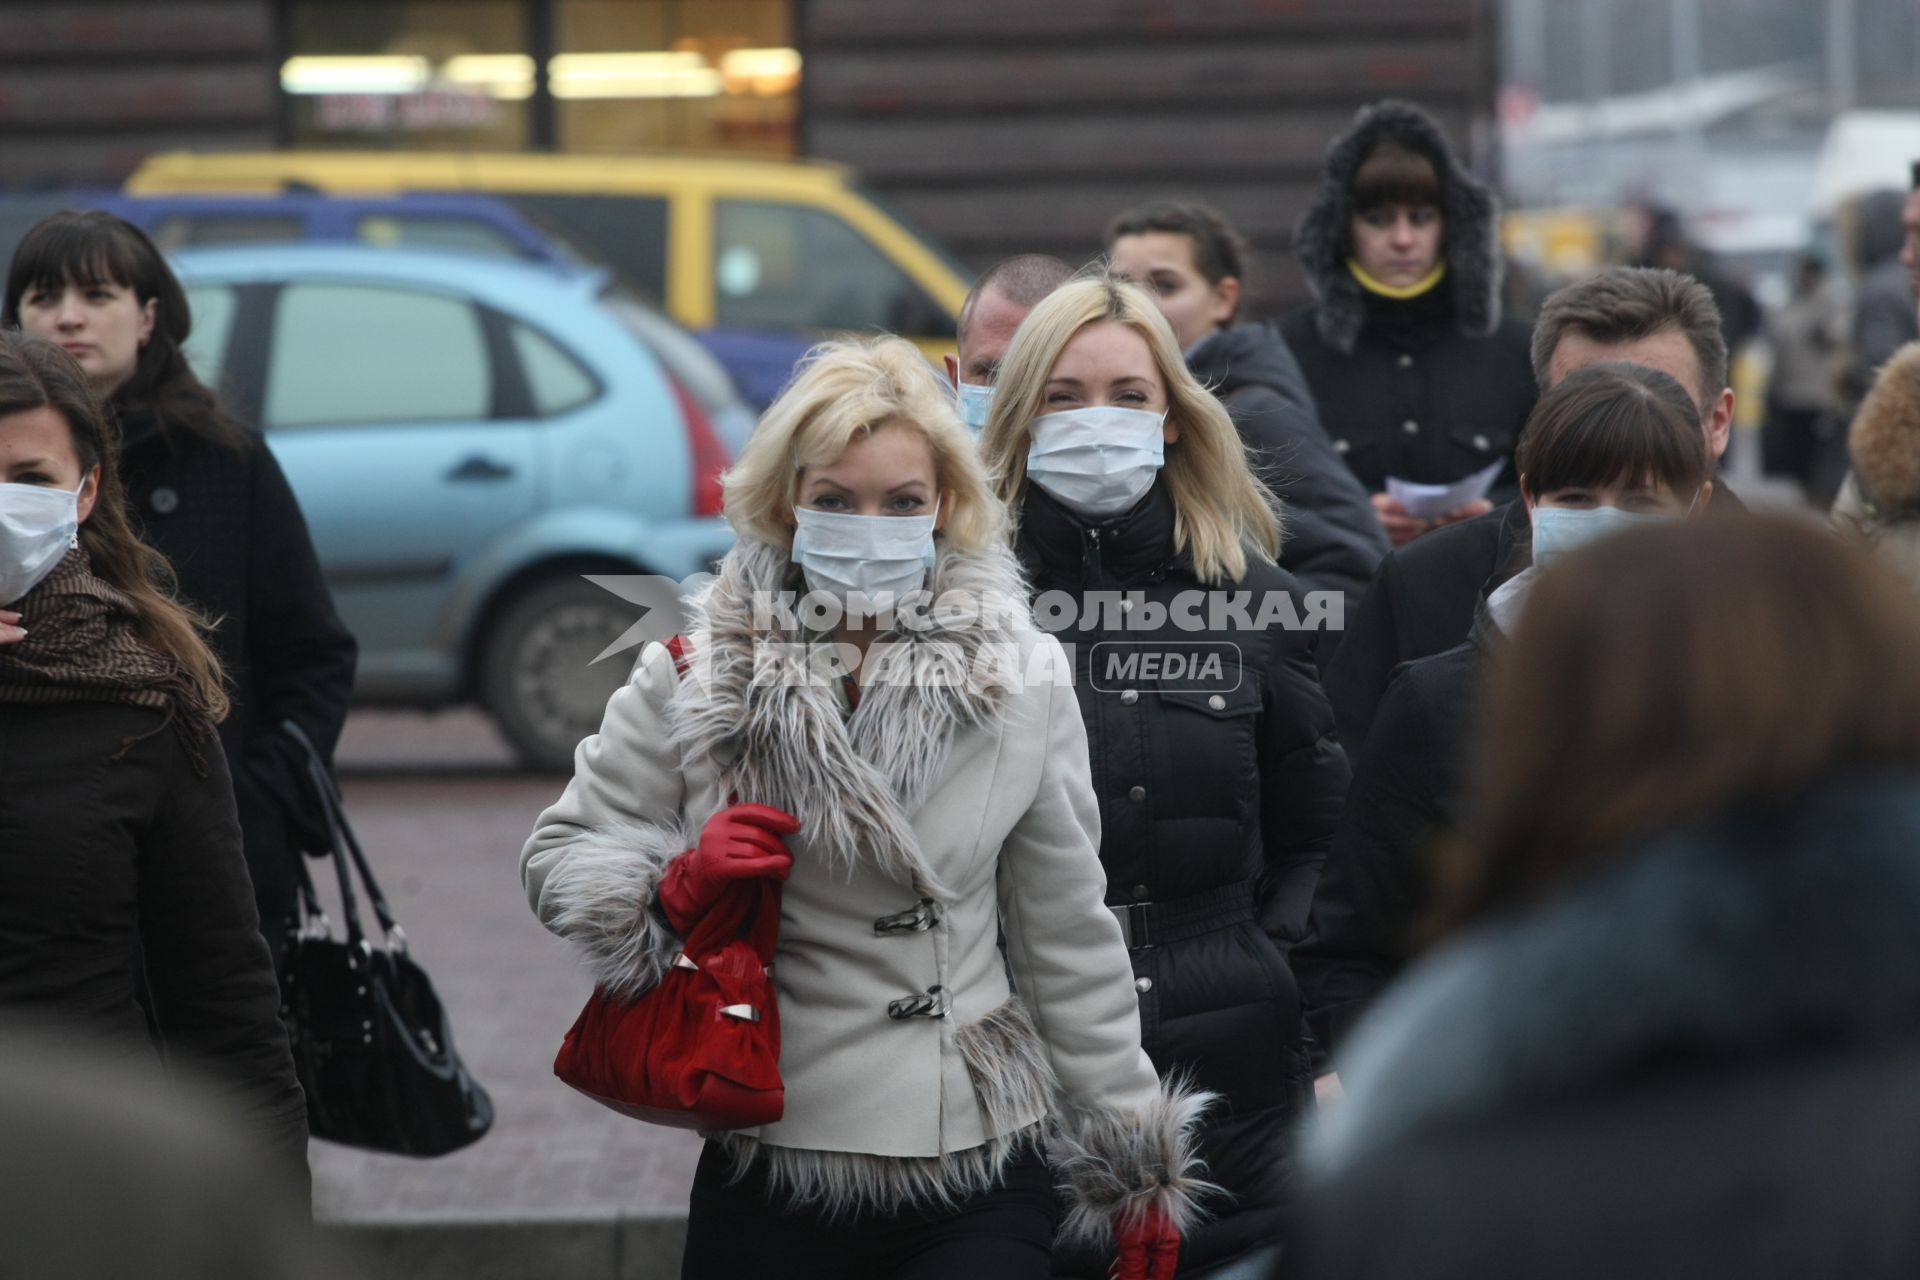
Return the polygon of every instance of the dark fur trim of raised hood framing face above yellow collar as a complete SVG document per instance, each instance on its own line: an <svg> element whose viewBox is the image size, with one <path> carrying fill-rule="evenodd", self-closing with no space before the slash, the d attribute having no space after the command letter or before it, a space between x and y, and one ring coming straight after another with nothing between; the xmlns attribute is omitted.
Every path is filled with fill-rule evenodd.
<svg viewBox="0 0 1920 1280"><path fill-rule="evenodd" d="M1327 171L1313 203L1294 226L1294 253L1306 267L1308 286L1319 299L1313 324L1327 345L1352 351L1367 319L1367 296L1346 267L1354 219L1354 175L1380 140L1392 140L1432 161L1440 177L1440 217L1446 230L1448 278L1453 290L1453 322L1469 336L1492 334L1500 324L1500 200L1448 146L1432 115L1388 98L1361 107L1354 125L1327 148Z"/></svg>

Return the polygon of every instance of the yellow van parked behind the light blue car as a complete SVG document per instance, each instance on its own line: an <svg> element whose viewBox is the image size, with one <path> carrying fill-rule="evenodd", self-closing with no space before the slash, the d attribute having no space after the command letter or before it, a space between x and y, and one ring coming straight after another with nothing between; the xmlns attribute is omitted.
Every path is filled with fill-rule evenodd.
<svg viewBox="0 0 1920 1280"><path fill-rule="evenodd" d="M163 152L136 196L474 192L695 330L889 330L952 351L970 273L820 161L520 152Z"/></svg>

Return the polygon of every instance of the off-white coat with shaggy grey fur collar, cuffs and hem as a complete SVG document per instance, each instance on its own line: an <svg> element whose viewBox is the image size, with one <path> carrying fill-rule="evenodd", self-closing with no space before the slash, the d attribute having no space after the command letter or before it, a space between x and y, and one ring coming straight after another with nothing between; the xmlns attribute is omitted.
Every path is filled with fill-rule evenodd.
<svg viewBox="0 0 1920 1280"><path fill-rule="evenodd" d="M730 796L787 810L785 1115L728 1134L735 1159L791 1203L893 1209L989 1186L1044 1126L1068 1234L1146 1201L1188 1217L1206 1098L1164 1092L1140 1050L1071 670L1012 557L943 551L935 599L995 608L897 631L914 676L870 679L851 716L831 679L766 660L806 637L755 603L795 585L783 549L743 539L693 604L685 674L649 645L526 842L534 912L601 984L645 990L678 954L666 864Z"/></svg>

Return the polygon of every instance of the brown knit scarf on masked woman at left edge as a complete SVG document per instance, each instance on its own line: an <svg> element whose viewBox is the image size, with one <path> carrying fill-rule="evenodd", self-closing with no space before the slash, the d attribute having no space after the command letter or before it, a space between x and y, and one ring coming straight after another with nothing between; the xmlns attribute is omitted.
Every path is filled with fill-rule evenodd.
<svg viewBox="0 0 1920 1280"><path fill-rule="evenodd" d="M180 662L140 639L134 606L94 576L86 551L73 547L13 610L27 639L0 645L0 702L123 702L152 706L173 725L205 775L202 748L213 714ZM121 743L119 758L142 733Z"/></svg>

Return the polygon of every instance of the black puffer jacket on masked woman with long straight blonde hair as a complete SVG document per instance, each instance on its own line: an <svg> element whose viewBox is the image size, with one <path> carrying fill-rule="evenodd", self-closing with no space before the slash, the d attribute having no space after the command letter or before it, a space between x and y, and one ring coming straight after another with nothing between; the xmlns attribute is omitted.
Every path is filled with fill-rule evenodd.
<svg viewBox="0 0 1920 1280"><path fill-rule="evenodd" d="M1208 589L1173 549L1164 484L1096 528L1029 487L1020 553L1043 626L1048 593L1069 593L1075 606L1098 591L1131 601L1098 610L1110 618L1081 608L1087 629L1062 629L1060 641L1087 720L1108 902L1135 944L1146 1050L1162 1075L1187 1073L1223 1094L1200 1151L1208 1178L1233 1201L1212 1203L1213 1219L1181 1251L1181 1274L1200 1274L1281 1232L1290 1132L1313 1096L1284 950L1306 925L1346 791L1346 756L1309 633L1187 631L1173 622L1167 610L1187 593L1200 601L1198 620L1212 620ZM1294 578L1260 560L1231 591L1250 593L1254 618L1269 593L1300 603ZM1125 629L1123 620L1154 612L1167 612L1156 629ZM1175 654L1198 670L1169 674ZM1108 1261L1056 1257L1054 1270L1106 1276Z"/></svg>

